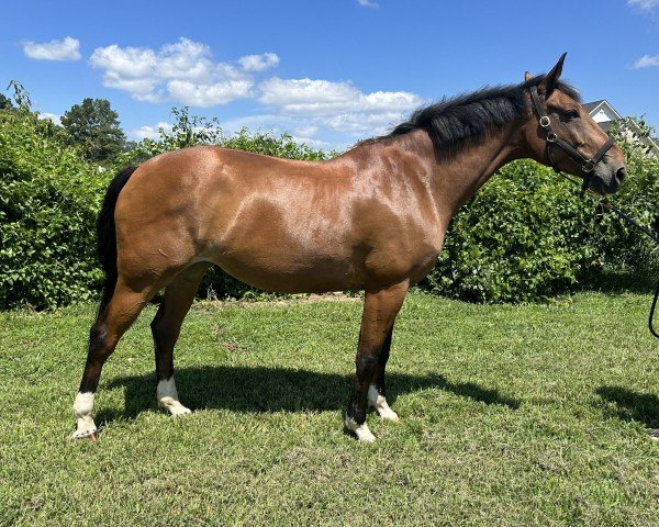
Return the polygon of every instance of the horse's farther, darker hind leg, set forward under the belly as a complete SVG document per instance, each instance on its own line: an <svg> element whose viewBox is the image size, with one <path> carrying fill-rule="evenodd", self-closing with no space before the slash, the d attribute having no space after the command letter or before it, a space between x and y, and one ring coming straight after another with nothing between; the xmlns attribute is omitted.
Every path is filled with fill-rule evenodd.
<svg viewBox="0 0 659 527"><path fill-rule="evenodd" d="M165 295L150 327L156 354L156 377L158 406L172 416L189 414L179 399L174 380L174 347L179 337L181 324L194 300L199 283L210 264L199 262L179 273L165 289Z"/></svg>

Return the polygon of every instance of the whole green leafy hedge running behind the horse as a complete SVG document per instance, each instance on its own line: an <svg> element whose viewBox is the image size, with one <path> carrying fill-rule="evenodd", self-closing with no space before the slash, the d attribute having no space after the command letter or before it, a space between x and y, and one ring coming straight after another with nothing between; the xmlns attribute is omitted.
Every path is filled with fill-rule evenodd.
<svg viewBox="0 0 659 527"><path fill-rule="evenodd" d="M94 223L115 169L160 152L200 143L293 159L332 154L290 136L224 137L215 121L175 112L171 133L144 141L104 170L66 146L62 130L25 109L0 111L0 309L49 309L94 298L101 271ZM624 142L629 178L614 201L659 228L659 161ZM421 284L476 302L528 302L576 289L603 269L656 268L651 243L597 209L597 200L532 161L504 167L454 217L445 247ZM259 292L213 268L200 295Z"/></svg>

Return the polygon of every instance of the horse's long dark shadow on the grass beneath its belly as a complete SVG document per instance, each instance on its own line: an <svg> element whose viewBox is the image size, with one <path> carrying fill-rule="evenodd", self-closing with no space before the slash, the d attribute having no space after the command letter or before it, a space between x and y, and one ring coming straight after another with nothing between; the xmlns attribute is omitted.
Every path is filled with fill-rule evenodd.
<svg viewBox="0 0 659 527"><path fill-rule="evenodd" d="M472 382L453 383L439 374L387 375L388 399L420 390L439 389L485 404L516 410L520 401L503 396ZM176 383L181 402L191 410L228 410L237 413L338 411L347 403L353 375L309 370L265 367L214 366L179 368ZM114 379L107 388L124 388L125 411L104 410L98 418L109 423L121 417L135 418L156 407L154 374Z"/></svg>

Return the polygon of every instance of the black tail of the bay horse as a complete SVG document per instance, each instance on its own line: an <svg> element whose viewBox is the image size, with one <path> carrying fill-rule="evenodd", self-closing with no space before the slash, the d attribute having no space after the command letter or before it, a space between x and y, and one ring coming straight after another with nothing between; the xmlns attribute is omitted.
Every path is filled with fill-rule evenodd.
<svg viewBox="0 0 659 527"><path fill-rule="evenodd" d="M103 296L101 298L101 304L99 305L98 316L101 316L103 310L110 302L110 299L112 299L118 279L114 208L116 206L119 193L136 169L137 167L124 168L121 172L114 176L110 182L110 186L108 187L105 198L103 199L103 206L99 213L99 220L97 222L97 239L99 261L101 262L103 271L105 271L105 283L103 284Z"/></svg>

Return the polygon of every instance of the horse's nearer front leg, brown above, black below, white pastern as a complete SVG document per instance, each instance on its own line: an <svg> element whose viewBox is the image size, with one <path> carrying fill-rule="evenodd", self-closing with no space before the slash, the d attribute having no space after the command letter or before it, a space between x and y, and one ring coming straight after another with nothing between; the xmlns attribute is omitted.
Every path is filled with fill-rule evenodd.
<svg viewBox="0 0 659 527"><path fill-rule="evenodd" d="M379 373L379 361L387 340L389 346L391 345L391 338L388 337L391 335L395 316L403 305L407 288L409 283L405 281L379 291L366 292L357 348L356 378L345 419L346 428L360 441L376 440L366 424L369 391L373 379ZM387 354L389 354L388 347ZM382 375L383 371L382 368ZM378 397L376 397L377 402ZM386 400L384 405L387 405Z"/></svg>

